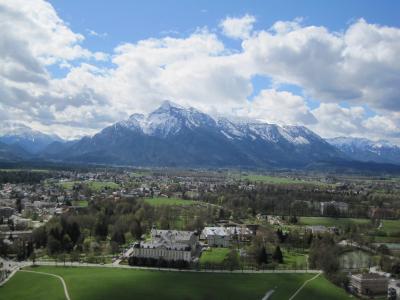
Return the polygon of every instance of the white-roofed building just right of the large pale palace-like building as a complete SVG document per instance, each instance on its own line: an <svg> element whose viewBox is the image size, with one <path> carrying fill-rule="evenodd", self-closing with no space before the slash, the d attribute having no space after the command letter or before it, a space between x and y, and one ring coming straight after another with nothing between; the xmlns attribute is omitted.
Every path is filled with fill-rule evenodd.
<svg viewBox="0 0 400 300"><path fill-rule="evenodd" d="M210 247L229 247L233 239L248 240L252 234L247 227L204 227L201 238L206 240Z"/></svg>

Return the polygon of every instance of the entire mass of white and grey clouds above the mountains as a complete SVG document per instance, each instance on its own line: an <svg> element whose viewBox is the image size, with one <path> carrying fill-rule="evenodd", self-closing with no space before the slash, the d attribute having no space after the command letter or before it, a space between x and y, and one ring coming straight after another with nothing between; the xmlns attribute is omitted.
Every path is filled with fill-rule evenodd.
<svg viewBox="0 0 400 300"><path fill-rule="evenodd" d="M242 40L241 49L199 28L101 53L86 49L84 36L48 2L0 1L0 117L74 137L171 99L211 114L302 124L326 137L399 138L399 28L360 19L339 33L295 19L255 31L255 21L245 15L220 22L225 36ZM97 63L107 59L112 65ZM67 74L55 78L50 66ZM260 88L254 76L273 84L250 100ZM282 90L287 83L301 95ZM309 99L319 107L311 109Z"/></svg>

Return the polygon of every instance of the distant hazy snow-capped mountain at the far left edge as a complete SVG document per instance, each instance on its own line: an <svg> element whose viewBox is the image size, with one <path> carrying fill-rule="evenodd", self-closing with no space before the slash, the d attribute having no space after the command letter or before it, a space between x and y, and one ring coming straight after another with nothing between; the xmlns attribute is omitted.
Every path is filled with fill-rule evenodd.
<svg viewBox="0 0 400 300"><path fill-rule="evenodd" d="M18 145L29 153L38 153L54 141L61 141L61 138L33 130L21 123L0 123L0 142Z"/></svg>

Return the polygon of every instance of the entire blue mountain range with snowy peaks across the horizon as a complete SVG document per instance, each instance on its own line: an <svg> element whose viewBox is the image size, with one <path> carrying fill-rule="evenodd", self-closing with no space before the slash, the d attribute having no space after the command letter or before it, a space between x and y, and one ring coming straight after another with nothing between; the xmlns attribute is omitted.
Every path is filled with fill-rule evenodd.
<svg viewBox="0 0 400 300"><path fill-rule="evenodd" d="M304 126L214 118L170 101L147 115L133 114L76 141L25 129L0 134L0 143L0 160L7 158L7 147L20 147L22 152L13 159L26 155L29 159L157 167L305 168L351 161L400 164L400 148L388 142L326 140Z"/></svg>

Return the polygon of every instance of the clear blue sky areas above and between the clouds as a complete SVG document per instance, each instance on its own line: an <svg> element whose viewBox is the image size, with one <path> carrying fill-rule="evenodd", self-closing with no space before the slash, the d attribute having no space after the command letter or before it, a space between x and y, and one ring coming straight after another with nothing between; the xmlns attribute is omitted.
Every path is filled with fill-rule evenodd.
<svg viewBox="0 0 400 300"><path fill-rule="evenodd" d="M196 28L218 28L227 16L253 15L257 19L254 28L266 29L280 20L302 18L302 24L324 26L341 32L347 24L360 18L370 23L400 26L399 1L373 0L274 0L274 1L50 1L61 18L75 32L86 33L84 45L93 51L111 53L116 45L137 42L149 37L186 37ZM88 34L95 31L99 36ZM220 38L232 48L240 50L240 41ZM65 75L66 70L54 68L55 75ZM252 81L254 97L261 89L270 86L266 77L255 76ZM302 89L286 84L281 90L302 94ZM318 101L307 99L311 108ZM346 106L344 103L343 106ZM369 115L374 113L366 106Z"/></svg>

